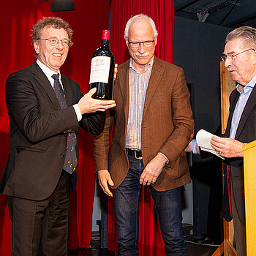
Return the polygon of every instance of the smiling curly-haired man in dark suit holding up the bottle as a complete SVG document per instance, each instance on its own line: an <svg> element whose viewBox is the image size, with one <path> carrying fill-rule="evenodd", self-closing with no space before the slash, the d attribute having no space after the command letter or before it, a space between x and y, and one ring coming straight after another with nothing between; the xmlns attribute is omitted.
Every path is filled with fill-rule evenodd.
<svg viewBox="0 0 256 256"><path fill-rule="evenodd" d="M37 61L7 78L11 141L0 192L8 195L12 255L67 255L78 127L99 134L104 111L116 105L92 99L95 89L83 96L78 83L60 73L71 37L61 18L39 20L32 34Z"/></svg>

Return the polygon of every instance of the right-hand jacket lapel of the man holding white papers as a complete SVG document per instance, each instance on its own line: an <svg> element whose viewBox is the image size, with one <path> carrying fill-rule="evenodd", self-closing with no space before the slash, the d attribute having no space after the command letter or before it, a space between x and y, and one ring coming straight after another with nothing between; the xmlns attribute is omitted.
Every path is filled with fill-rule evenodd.
<svg viewBox="0 0 256 256"><path fill-rule="evenodd" d="M242 116L241 116L239 124L238 124L238 129L236 132L236 139L241 134L241 131L244 128L244 124L246 124L249 114L252 112L253 108L255 108L255 105L256 105L256 86L252 89L249 99L247 100L246 105L244 107L244 111L242 113Z"/></svg>

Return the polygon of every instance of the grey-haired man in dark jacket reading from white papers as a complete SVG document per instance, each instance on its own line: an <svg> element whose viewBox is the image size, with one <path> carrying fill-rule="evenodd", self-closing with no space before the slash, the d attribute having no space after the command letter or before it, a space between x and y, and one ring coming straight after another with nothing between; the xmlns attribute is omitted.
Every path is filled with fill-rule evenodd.
<svg viewBox="0 0 256 256"><path fill-rule="evenodd" d="M222 60L236 89L230 94L230 115L224 137L211 139L211 146L225 157L223 214L233 218L238 256L246 255L244 216L244 153L242 146L256 139L256 29L244 26L226 37Z"/></svg>

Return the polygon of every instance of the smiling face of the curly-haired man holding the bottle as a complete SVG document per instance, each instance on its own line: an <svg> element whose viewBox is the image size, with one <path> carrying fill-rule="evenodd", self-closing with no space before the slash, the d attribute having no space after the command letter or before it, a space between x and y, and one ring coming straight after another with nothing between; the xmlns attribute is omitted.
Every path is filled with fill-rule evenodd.
<svg viewBox="0 0 256 256"><path fill-rule="evenodd" d="M44 39L39 39L34 42L34 50L37 53L37 59L49 69L57 72L67 58L69 48L64 48L61 41L55 46L50 45L50 42L45 39L56 38L59 40L68 40L67 31L62 28L55 29L52 26L45 26L45 28L42 29L40 38Z"/></svg>

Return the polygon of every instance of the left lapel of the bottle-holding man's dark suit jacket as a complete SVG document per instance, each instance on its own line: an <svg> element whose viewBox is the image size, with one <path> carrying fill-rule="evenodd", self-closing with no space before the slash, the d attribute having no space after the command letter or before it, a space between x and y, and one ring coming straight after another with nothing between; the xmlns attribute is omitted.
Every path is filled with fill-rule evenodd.
<svg viewBox="0 0 256 256"><path fill-rule="evenodd" d="M53 107L56 110L60 109L61 107L59 105L58 99L56 98L56 94L53 91L53 87L51 86L45 73L42 71L42 69L39 68L36 62L34 62L31 65L31 72L34 75L34 79L37 80L37 83L39 84L39 86L41 86L42 89L45 90L46 94L48 94L50 101L53 103Z"/></svg>

